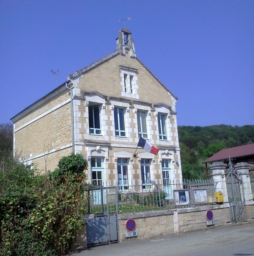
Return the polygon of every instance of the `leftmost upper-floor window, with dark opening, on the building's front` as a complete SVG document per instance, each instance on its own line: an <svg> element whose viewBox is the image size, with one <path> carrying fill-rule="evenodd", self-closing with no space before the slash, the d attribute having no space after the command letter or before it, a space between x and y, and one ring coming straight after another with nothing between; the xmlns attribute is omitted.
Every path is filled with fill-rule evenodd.
<svg viewBox="0 0 254 256"><path fill-rule="evenodd" d="M101 134L100 111L101 111L100 105L88 106L90 134Z"/></svg>

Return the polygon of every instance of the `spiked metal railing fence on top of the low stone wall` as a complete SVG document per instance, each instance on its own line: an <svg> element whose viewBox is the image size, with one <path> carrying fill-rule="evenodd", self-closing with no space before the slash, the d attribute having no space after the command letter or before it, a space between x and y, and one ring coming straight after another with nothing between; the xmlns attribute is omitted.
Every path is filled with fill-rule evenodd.
<svg viewBox="0 0 254 256"><path fill-rule="evenodd" d="M137 212L146 210L190 207L209 204L208 197L214 195L212 179L183 180L167 184L118 184L117 186L89 185L86 189L88 213Z"/></svg>

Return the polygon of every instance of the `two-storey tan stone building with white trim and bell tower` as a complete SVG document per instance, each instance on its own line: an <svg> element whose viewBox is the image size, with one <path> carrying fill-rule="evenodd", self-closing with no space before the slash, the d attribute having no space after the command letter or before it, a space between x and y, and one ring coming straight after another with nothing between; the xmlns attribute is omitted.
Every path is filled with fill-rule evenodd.
<svg viewBox="0 0 254 256"><path fill-rule="evenodd" d="M14 150L44 172L74 149L87 159L87 180L94 184L179 183L176 101L136 57L132 33L124 28L115 52L69 75L11 119ZM138 148L134 157L140 136L159 149L157 156Z"/></svg>

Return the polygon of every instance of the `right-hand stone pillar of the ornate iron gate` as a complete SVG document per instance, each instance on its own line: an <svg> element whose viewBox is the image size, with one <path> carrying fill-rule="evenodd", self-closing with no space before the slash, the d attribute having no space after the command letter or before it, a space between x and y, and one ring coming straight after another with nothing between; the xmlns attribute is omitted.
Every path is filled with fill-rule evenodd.
<svg viewBox="0 0 254 256"><path fill-rule="evenodd" d="M241 174L242 182L241 187L243 191L243 199L245 201L251 201L252 198L252 190L251 190L251 180L249 178L249 164L248 163L237 163L234 165L236 171Z"/></svg>

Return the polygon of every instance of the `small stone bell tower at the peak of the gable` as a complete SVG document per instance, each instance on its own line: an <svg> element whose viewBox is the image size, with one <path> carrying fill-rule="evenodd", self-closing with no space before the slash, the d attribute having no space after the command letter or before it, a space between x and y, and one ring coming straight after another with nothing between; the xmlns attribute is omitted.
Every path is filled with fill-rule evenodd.
<svg viewBox="0 0 254 256"><path fill-rule="evenodd" d="M127 28L121 29L116 40L118 52L125 56L129 55L133 58L136 57L134 41L132 40L132 32Z"/></svg>

